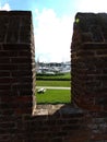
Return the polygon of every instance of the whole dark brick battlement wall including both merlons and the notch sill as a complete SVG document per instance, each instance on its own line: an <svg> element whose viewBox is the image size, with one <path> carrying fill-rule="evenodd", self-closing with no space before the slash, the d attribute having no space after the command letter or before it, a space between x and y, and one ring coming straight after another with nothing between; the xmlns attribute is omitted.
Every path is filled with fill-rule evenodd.
<svg viewBox="0 0 107 142"><path fill-rule="evenodd" d="M38 105L33 109L32 13L0 12L0 142L107 142L106 20L106 14L76 14L71 46L73 103L43 106L40 114ZM88 32L93 24L98 25L94 34Z"/></svg>

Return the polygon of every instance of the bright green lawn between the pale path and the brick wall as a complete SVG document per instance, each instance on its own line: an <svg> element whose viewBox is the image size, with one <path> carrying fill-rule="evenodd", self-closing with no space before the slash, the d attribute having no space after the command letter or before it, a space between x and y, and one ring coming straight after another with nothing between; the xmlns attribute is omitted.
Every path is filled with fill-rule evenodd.
<svg viewBox="0 0 107 142"><path fill-rule="evenodd" d="M36 94L37 104L69 104L70 90L47 90L44 94Z"/></svg>

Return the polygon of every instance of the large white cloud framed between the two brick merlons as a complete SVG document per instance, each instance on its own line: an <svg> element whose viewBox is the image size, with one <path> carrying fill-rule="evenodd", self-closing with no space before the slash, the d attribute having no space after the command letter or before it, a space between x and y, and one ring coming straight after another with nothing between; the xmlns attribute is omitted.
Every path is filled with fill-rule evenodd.
<svg viewBox="0 0 107 142"><path fill-rule="evenodd" d="M35 47L41 61L70 60L72 19L57 17L52 9L36 9Z"/></svg>

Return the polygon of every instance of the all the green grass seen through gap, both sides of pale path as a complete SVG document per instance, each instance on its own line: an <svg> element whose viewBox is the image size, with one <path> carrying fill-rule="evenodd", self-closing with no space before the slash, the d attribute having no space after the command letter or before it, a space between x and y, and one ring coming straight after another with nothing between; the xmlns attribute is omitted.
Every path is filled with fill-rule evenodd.
<svg viewBox="0 0 107 142"><path fill-rule="evenodd" d="M36 86L70 87L70 73L60 75L38 75ZM39 79L39 80L38 80ZM36 92L37 104L68 104L71 102L70 90L47 90L45 94Z"/></svg>

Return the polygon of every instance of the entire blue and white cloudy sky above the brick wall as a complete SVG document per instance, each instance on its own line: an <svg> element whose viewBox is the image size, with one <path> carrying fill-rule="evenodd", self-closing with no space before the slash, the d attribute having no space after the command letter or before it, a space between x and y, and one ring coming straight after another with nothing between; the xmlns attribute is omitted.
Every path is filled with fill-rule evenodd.
<svg viewBox="0 0 107 142"><path fill-rule="evenodd" d="M0 0L0 10L31 10L36 60L69 61L76 12L107 12L107 0Z"/></svg>

